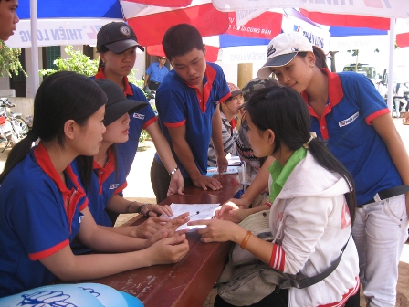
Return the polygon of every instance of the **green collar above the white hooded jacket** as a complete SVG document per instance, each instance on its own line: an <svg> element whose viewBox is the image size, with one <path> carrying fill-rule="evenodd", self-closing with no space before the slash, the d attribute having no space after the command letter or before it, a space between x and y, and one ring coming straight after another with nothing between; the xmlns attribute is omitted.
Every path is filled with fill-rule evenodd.
<svg viewBox="0 0 409 307"><path fill-rule="evenodd" d="M292 173L297 164L299 164L299 162L306 157L306 155L307 149L301 147L291 154L284 166L279 164L278 160L276 160L268 167L268 172L271 174L271 178L273 179L273 184L270 186L269 196L269 201L271 204L274 202L278 194L281 192L283 186L286 184L288 176Z"/></svg>

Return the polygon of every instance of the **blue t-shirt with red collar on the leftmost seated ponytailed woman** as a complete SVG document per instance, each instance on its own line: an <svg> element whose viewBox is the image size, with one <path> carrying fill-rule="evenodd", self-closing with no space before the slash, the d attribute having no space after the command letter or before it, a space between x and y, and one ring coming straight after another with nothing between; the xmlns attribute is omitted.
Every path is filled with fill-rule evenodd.
<svg viewBox="0 0 409 307"><path fill-rule="evenodd" d="M38 259L68 246L88 198L70 165L66 184L40 142L0 186L0 297L54 281Z"/></svg>

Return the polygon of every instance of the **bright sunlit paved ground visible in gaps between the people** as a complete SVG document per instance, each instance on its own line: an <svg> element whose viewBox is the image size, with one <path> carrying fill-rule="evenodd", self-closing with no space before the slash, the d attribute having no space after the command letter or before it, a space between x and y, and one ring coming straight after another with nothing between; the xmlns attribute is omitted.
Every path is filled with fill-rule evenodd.
<svg viewBox="0 0 409 307"><path fill-rule="evenodd" d="M400 119L393 119L393 122L401 134L407 151L409 152L409 125L402 125ZM3 150L3 144L0 144L0 151ZM5 153L0 153L0 170L3 169L5 159L9 149ZM138 154L136 154L135 161L131 168L131 173L128 176L128 187L124 190L124 196L129 199L134 199L142 202L155 202L155 196L152 191L150 180L150 169L155 153L152 142L147 141L140 146ZM131 215L121 215L117 225L121 225L124 221L129 219ZM409 243L404 246L404 251L399 263L399 281L397 285L397 302L396 306L409 307ZM215 297L215 290L211 292L204 307L213 306ZM361 300L361 306L365 306L364 299Z"/></svg>

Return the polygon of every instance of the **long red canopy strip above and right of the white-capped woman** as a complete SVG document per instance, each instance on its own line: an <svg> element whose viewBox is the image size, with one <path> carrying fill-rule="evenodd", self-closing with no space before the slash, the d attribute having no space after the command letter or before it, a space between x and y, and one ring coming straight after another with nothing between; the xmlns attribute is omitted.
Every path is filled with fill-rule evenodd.
<svg viewBox="0 0 409 307"><path fill-rule="evenodd" d="M310 20L327 26L370 27L378 30L389 30L390 19L372 16L341 15L299 10Z"/></svg>

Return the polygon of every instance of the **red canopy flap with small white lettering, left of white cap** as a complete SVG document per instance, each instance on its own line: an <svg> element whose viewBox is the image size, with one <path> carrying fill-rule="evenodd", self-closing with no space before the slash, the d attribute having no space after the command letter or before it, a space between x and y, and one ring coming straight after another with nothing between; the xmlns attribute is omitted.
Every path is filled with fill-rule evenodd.
<svg viewBox="0 0 409 307"><path fill-rule="evenodd" d="M265 12L251 19L244 26L236 25L236 13L229 13L229 28L225 34L239 37L256 37L272 39L281 33L283 15L280 13Z"/></svg>

